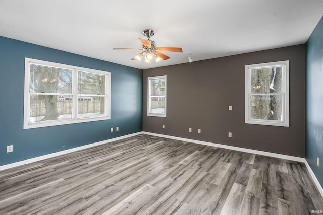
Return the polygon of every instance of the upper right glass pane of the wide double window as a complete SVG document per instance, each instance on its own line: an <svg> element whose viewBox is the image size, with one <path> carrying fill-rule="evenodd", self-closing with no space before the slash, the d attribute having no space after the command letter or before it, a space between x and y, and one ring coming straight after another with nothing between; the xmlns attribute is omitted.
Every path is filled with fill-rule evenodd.
<svg viewBox="0 0 323 215"><path fill-rule="evenodd" d="M79 71L77 89L79 94L105 95L105 76Z"/></svg>

